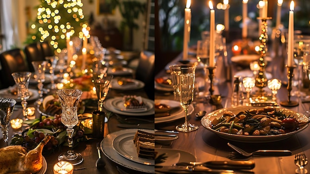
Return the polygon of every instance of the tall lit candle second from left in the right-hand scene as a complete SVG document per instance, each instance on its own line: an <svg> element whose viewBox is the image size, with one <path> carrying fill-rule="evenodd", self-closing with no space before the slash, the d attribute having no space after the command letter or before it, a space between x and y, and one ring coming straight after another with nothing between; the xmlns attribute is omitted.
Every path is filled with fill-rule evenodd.
<svg viewBox="0 0 310 174"><path fill-rule="evenodd" d="M210 59L209 66L214 67L214 54L215 54L215 16L212 1L209 0L210 7Z"/></svg>

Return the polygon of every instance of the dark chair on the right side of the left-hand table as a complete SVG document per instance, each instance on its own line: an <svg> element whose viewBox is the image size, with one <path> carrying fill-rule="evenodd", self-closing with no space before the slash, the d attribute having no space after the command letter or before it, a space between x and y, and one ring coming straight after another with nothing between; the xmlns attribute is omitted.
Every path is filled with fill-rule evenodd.
<svg viewBox="0 0 310 174"><path fill-rule="evenodd" d="M140 53L139 63L136 69L135 78L144 82L144 89L150 99L154 99L154 67L155 67L155 55L149 51L143 51Z"/></svg>

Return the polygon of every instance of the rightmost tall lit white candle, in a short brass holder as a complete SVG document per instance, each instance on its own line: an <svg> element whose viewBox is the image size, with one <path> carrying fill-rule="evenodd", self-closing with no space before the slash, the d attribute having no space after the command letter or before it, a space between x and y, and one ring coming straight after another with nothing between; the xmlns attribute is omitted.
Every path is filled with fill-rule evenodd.
<svg viewBox="0 0 310 174"><path fill-rule="evenodd" d="M291 1L289 12L289 37L288 37L288 51L287 51L287 65L289 67L293 66L293 47L294 47L294 1Z"/></svg>

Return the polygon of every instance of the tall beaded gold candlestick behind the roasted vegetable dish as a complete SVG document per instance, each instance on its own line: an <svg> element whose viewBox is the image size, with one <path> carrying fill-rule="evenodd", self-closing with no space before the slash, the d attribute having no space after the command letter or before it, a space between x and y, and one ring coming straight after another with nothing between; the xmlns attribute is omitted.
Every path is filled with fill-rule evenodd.
<svg viewBox="0 0 310 174"><path fill-rule="evenodd" d="M267 20L271 19L271 17L266 17L266 18L262 18L262 17L258 17L258 19L261 20L261 34L259 35L259 40L260 40L260 45L259 45L259 52L260 52L260 57L258 59L258 65L259 65L259 71L258 74L256 76L256 82L255 82L255 86L258 87L260 89L260 94L262 96L262 88L267 86L267 82L268 79L265 75L265 66L266 66L266 62L264 60L265 56L266 56L266 52L267 52L267 46L266 46L266 42L268 39L268 35L267 35L267 28L268 28L268 23Z"/></svg>

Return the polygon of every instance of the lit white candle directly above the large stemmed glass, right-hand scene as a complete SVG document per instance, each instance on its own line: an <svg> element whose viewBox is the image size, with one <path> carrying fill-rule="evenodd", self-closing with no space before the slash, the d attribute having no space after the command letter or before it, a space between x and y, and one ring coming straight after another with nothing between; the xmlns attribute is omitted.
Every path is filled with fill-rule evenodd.
<svg viewBox="0 0 310 174"><path fill-rule="evenodd" d="M191 33L191 0L187 0L186 8L184 9L184 40L183 40L183 60L188 59L188 42L190 41Z"/></svg>

